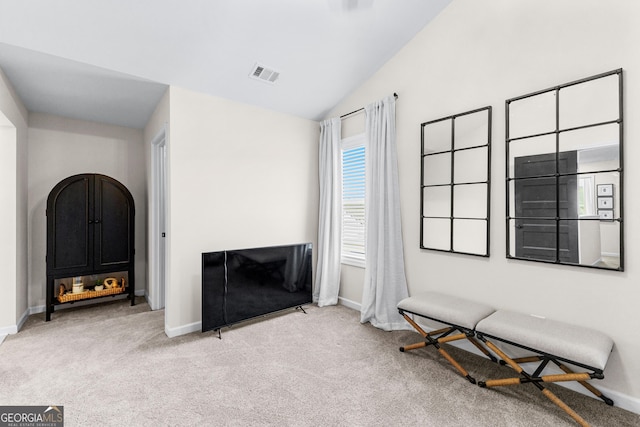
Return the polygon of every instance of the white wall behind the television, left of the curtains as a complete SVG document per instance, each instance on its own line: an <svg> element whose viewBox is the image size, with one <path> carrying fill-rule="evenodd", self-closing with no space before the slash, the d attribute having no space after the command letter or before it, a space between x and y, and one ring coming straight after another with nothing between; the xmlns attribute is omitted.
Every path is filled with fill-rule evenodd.
<svg viewBox="0 0 640 427"><path fill-rule="evenodd" d="M201 254L313 242L318 124L170 89L166 332L200 329ZM314 250L315 255L315 250Z"/></svg>

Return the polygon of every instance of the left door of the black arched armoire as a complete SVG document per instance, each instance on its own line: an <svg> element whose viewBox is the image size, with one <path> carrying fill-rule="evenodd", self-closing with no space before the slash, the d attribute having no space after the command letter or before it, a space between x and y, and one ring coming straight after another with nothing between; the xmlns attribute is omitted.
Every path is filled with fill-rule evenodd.
<svg viewBox="0 0 640 427"><path fill-rule="evenodd" d="M93 178L78 175L63 181L47 202L48 266L55 271L93 264ZM48 268L49 269L49 268Z"/></svg>

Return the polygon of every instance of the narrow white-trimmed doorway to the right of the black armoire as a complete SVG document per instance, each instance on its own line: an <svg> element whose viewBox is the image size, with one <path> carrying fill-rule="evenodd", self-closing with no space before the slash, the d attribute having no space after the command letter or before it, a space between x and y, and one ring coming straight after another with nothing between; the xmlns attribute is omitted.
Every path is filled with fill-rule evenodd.
<svg viewBox="0 0 640 427"><path fill-rule="evenodd" d="M165 305L166 289L166 127L151 141L151 268L149 306L160 310Z"/></svg>

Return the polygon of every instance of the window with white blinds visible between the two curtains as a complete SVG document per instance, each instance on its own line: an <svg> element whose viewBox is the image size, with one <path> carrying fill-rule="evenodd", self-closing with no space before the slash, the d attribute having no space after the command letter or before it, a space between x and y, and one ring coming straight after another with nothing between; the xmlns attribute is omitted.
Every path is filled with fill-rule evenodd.
<svg viewBox="0 0 640 427"><path fill-rule="evenodd" d="M364 267L365 138L342 140L342 263Z"/></svg>

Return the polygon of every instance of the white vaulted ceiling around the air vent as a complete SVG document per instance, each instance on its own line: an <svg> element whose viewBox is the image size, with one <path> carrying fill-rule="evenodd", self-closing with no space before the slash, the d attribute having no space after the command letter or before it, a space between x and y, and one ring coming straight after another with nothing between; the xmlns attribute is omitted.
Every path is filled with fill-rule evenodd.
<svg viewBox="0 0 640 427"><path fill-rule="evenodd" d="M142 128L176 85L320 120L450 2L0 0L0 68L32 112Z"/></svg>

